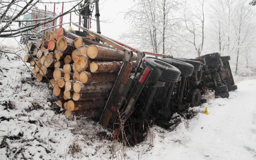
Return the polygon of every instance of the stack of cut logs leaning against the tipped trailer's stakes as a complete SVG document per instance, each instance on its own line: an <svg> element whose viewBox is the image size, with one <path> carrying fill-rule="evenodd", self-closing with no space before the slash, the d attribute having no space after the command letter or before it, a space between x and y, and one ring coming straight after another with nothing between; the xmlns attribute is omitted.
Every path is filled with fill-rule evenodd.
<svg viewBox="0 0 256 160"><path fill-rule="evenodd" d="M39 82L53 87L66 116L100 116L120 70L124 53L64 28L29 42L24 61ZM132 60L136 60L134 55Z"/></svg>

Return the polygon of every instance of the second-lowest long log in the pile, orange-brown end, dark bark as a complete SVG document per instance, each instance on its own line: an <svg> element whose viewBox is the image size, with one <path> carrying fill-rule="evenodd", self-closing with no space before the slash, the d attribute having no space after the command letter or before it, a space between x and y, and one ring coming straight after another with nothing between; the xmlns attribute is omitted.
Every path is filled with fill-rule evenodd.
<svg viewBox="0 0 256 160"><path fill-rule="evenodd" d="M67 101L67 110L89 110L103 108L105 101L103 99L98 99L97 101L87 100L87 101Z"/></svg>

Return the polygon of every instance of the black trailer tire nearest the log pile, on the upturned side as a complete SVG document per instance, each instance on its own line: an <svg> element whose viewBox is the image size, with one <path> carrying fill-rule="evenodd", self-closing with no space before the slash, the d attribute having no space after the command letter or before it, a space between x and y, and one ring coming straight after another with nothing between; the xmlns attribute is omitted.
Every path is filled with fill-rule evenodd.
<svg viewBox="0 0 256 160"><path fill-rule="evenodd" d="M180 70L172 66L171 64L164 62L161 59L147 57L146 64L152 67L153 69L156 67L163 71L158 81L176 83L180 79Z"/></svg>

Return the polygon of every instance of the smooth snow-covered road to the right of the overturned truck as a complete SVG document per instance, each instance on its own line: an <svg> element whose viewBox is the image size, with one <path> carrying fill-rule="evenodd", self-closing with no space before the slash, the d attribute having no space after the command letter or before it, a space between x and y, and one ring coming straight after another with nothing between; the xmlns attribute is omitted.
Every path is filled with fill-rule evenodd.
<svg viewBox="0 0 256 160"><path fill-rule="evenodd" d="M209 115L199 113L173 132L157 127L154 147L141 159L256 159L255 91L255 79L243 81L228 99L200 107L208 107Z"/></svg>

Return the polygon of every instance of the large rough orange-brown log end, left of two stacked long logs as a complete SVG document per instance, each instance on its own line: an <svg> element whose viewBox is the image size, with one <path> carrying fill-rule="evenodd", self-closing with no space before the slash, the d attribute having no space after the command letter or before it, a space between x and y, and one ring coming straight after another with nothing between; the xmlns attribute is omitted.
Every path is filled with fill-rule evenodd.
<svg viewBox="0 0 256 160"><path fill-rule="evenodd" d="M77 72L89 70L89 60L86 56L78 55L74 60L75 69Z"/></svg>

